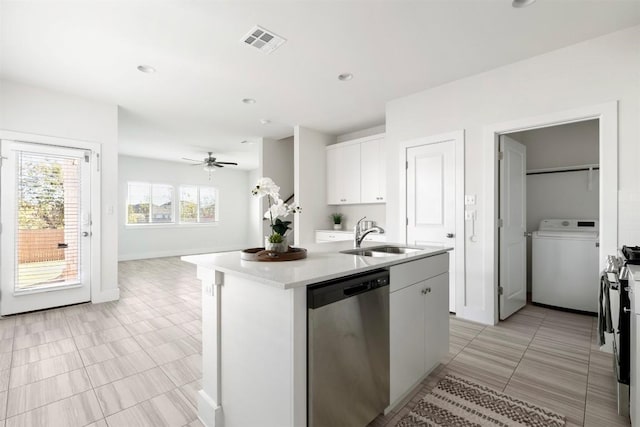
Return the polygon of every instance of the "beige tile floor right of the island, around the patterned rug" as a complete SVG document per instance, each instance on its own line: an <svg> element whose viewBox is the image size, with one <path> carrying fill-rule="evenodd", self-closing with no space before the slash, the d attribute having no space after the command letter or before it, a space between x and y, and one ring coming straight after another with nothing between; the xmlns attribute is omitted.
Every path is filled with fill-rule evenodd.
<svg viewBox="0 0 640 427"><path fill-rule="evenodd" d="M593 317L528 305L496 326L451 318L447 358L370 427L395 426L447 374L553 409L567 426L630 425L616 413L611 356L598 350Z"/></svg>

